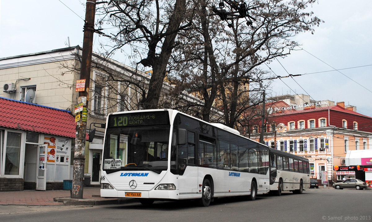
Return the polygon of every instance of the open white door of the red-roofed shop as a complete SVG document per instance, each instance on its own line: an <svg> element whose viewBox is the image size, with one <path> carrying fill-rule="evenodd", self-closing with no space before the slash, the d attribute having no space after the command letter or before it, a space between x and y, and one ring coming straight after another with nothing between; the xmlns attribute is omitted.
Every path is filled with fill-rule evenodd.
<svg viewBox="0 0 372 222"><path fill-rule="evenodd" d="M47 189L47 144L38 148L38 171L36 172L36 190Z"/></svg>

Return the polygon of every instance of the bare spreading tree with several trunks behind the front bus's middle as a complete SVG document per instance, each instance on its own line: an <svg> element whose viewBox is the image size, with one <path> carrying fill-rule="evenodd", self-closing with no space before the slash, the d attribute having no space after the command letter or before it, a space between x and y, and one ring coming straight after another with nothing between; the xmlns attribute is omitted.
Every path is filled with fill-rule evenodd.
<svg viewBox="0 0 372 222"><path fill-rule="evenodd" d="M234 127L245 110L257 105L248 92L261 91L267 73L260 65L275 57L283 57L298 43L291 38L300 32L314 31L322 21L311 12L304 12L315 0L251 1L248 8L253 23L231 18L228 22L216 21L211 6L214 1L201 2L195 13L193 29L180 33L175 61L179 63L180 81L190 91L200 92L204 101L203 120L209 121L212 107L222 106L224 121ZM224 26L228 24L228 26ZM249 89L252 82L260 87ZM184 86L184 88L185 88ZM186 89L186 88L185 88ZM246 97L246 98L244 98ZM221 100L221 103L216 103ZM261 100L262 102L262 100Z"/></svg>

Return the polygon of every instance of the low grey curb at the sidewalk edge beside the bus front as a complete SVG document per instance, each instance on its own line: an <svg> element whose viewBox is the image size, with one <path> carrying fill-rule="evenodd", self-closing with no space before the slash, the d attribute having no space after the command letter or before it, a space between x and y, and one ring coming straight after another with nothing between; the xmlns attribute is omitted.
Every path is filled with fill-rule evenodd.
<svg viewBox="0 0 372 222"><path fill-rule="evenodd" d="M123 204L137 202L135 198L120 198L120 199L72 199L70 197L53 198L56 202L62 202L65 206L96 206L107 204Z"/></svg>

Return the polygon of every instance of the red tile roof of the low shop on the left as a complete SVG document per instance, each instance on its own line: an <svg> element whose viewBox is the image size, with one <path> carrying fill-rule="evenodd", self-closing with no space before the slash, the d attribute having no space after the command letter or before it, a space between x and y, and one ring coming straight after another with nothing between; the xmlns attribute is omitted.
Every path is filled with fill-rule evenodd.
<svg viewBox="0 0 372 222"><path fill-rule="evenodd" d="M75 138L75 117L70 111L0 97L0 126Z"/></svg>

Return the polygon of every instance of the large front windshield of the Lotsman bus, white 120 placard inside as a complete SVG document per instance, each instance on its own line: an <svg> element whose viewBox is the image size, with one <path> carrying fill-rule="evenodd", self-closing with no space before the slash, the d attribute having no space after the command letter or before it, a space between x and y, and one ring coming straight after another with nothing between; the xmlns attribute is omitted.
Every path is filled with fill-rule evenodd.
<svg viewBox="0 0 372 222"><path fill-rule="evenodd" d="M167 170L170 125L108 128L103 170Z"/></svg>

